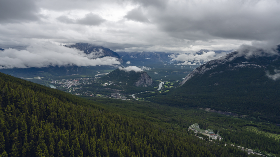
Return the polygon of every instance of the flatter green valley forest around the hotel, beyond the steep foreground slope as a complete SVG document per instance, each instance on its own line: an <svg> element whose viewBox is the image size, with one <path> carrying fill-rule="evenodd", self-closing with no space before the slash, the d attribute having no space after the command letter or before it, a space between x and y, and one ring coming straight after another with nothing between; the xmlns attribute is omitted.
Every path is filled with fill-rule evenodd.
<svg viewBox="0 0 280 157"><path fill-rule="evenodd" d="M94 102L104 104L103 107L117 114L137 119L145 119L159 126L171 128L175 132L187 132L189 126L198 123L201 129L211 129L223 138L220 143L234 144L255 150L263 154L272 153L280 156L280 140L252 132L247 127L255 127L258 131L269 134L280 134L280 127L251 119L250 117L236 118L223 114L207 112L201 109L181 108L159 105L147 101L122 101L109 98L85 97ZM195 132L193 132L195 133ZM209 141L208 136L201 136ZM265 153L266 152L266 153Z"/></svg>

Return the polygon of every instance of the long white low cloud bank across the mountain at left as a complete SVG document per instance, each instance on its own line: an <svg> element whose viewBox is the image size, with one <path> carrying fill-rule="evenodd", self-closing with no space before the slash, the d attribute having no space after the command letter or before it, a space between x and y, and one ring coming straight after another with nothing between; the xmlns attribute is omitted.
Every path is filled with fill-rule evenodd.
<svg viewBox="0 0 280 157"><path fill-rule="evenodd" d="M103 57L92 59L92 54L85 54L53 43L33 44L26 50L6 49L0 51L0 69L30 68L48 66L96 66L119 65L118 58Z"/></svg>

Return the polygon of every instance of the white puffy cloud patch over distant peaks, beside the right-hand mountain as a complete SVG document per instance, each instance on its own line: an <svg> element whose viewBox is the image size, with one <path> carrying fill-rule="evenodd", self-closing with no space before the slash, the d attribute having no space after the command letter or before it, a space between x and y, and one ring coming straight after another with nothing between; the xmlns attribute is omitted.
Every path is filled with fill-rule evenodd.
<svg viewBox="0 0 280 157"><path fill-rule="evenodd" d="M202 65L208 61L220 58L226 55L226 52L215 53L214 51L202 52L202 54L186 53L175 55L172 54L169 57L173 58L171 61L180 61L177 65Z"/></svg>

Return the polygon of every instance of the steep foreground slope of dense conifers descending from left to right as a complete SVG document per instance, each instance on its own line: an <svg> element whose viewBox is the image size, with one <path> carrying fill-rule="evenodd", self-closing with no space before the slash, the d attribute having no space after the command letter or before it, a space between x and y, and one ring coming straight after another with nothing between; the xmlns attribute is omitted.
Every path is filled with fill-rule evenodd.
<svg viewBox="0 0 280 157"><path fill-rule="evenodd" d="M248 156L100 104L0 73L0 155Z"/></svg>

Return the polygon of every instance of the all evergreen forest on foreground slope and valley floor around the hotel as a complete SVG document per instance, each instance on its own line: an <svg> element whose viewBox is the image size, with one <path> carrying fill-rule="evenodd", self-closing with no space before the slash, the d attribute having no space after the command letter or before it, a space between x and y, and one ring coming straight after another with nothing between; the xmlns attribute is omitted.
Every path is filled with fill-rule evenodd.
<svg viewBox="0 0 280 157"><path fill-rule="evenodd" d="M244 128L279 134L270 123L150 102L82 98L3 73L0 89L1 157L248 156L226 142L280 156L279 140ZM188 131L191 123L220 131L225 140L199 139Z"/></svg>

